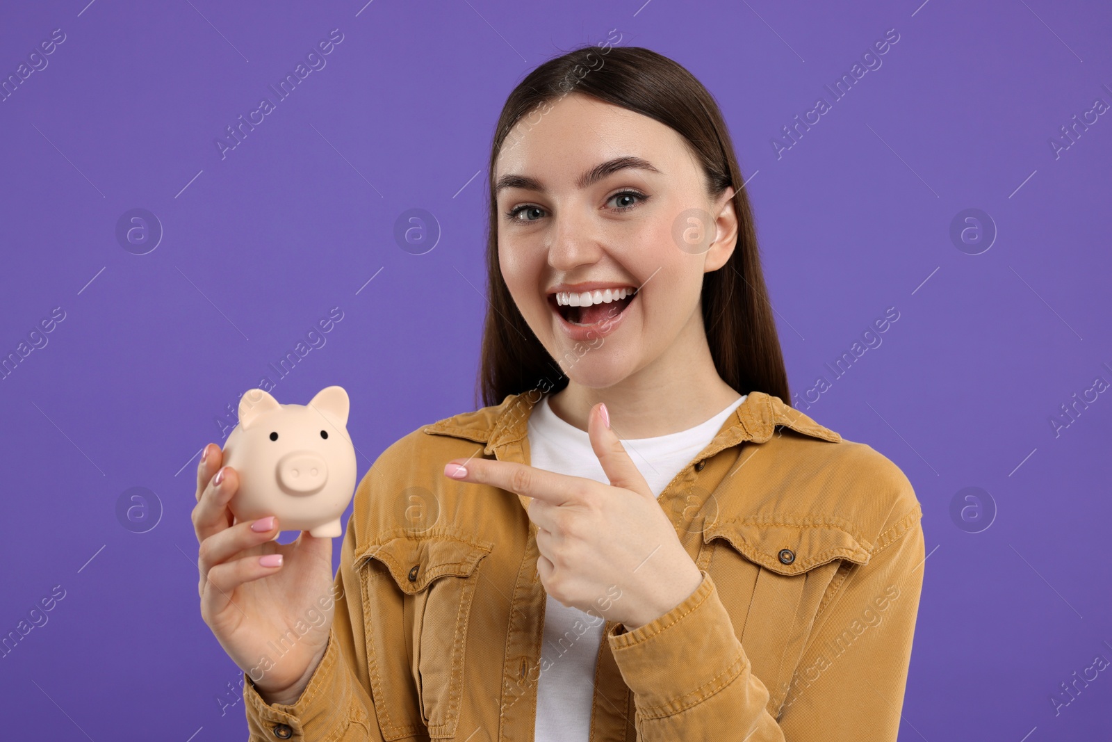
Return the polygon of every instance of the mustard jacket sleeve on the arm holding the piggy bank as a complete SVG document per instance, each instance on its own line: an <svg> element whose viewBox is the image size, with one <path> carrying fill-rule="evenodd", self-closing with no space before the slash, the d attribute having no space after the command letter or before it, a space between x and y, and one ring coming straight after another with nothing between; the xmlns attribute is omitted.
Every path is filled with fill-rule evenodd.
<svg viewBox="0 0 1112 742"><path fill-rule="evenodd" d="M280 739L304 742L381 742L375 704L371 700L366 669L357 672L364 652L364 611L359 576L351 563L355 548L353 522L340 552L334 594L336 612L328 647L317 665L308 686L292 704L267 704L244 673L244 700L249 742L276 742ZM282 726L285 725L285 726ZM289 729L285 729L288 726ZM276 731L277 728L277 731ZM288 736L287 736L288 735Z"/></svg>

